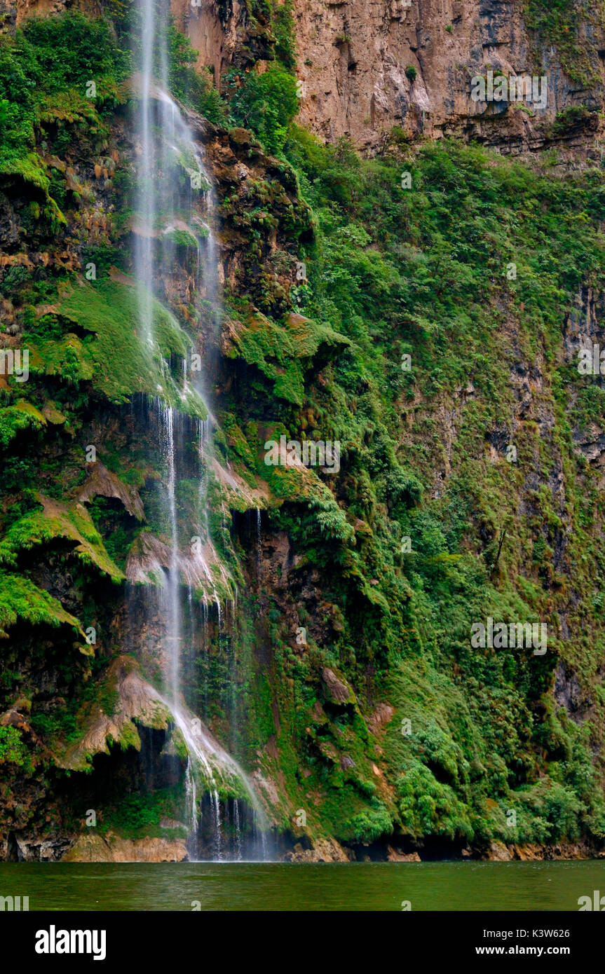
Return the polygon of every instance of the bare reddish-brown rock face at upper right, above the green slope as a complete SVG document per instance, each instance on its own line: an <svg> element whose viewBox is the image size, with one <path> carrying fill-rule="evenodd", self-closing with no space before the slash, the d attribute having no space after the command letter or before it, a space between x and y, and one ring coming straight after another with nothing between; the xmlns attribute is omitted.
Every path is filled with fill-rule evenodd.
<svg viewBox="0 0 605 974"><path fill-rule="evenodd" d="M556 56L536 59L519 5L297 0L295 10L298 70L307 83L301 121L328 140L350 135L371 149L398 125L410 135L473 134L514 151L540 144L541 122L586 102L586 91L565 76ZM507 76L548 72L546 109L532 117L504 102L473 101L471 79L488 67ZM597 60L588 98L595 105L602 82Z"/></svg>

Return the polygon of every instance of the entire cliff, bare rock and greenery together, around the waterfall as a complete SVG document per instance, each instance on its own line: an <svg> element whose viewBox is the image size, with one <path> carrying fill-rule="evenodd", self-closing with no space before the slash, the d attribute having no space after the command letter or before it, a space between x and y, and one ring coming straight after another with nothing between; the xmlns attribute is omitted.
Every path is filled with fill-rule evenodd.
<svg viewBox="0 0 605 974"><path fill-rule="evenodd" d="M224 303L170 227L160 360L132 298L128 23L83 9L3 8L0 314L31 375L0 376L2 854L187 854L186 755L154 693L158 389L176 402L187 704L246 768L279 853L594 851L605 391L578 361L604 340L597 19L534 0L174 7L199 66L237 82L217 101L177 39L216 194L192 219L211 224ZM487 70L548 72L544 112L479 115ZM199 416L174 397L192 352L216 418L203 468ZM337 442L338 464L268 464L283 436ZM188 550L201 477L209 604ZM534 643L498 645L505 623L507 641L538 626Z"/></svg>

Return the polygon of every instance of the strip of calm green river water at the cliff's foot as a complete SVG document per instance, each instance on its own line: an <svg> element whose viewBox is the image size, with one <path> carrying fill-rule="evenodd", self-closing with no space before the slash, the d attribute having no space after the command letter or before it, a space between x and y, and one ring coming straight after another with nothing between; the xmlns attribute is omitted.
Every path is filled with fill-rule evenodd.
<svg viewBox="0 0 605 974"><path fill-rule="evenodd" d="M605 862L0 863L0 895L36 910L578 910Z"/></svg>

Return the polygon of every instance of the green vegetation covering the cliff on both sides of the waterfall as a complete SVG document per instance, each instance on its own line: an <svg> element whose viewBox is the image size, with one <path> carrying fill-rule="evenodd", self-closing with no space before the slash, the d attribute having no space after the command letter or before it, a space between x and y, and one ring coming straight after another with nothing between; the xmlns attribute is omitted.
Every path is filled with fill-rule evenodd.
<svg viewBox="0 0 605 974"><path fill-rule="evenodd" d="M323 145L293 123L288 12L251 5L274 57L263 73L241 58L222 94L170 35L173 94L222 153L218 229L236 268L215 455L256 502L211 483L212 541L244 584L237 618L197 653L192 706L277 783L296 837L601 842L604 393L573 336L602 304L602 169L397 130L371 160ZM165 528L141 393L206 415L177 394L208 337L189 306L158 306L157 354L133 334L129 16L0 37L0 290L7 341L30 352L27 383L0 385L0 831L35 828L27 782L44 775L64 804L48 829L82 814L58 755L110 660L134 652L125 569ZM229 153L245 179L223 171ZM185 281L186 255L175 264ZM282 435L338 442L339 468L267 466ZM81 502L91 443L113 493ZM197 496L192 467L183 539ZM546 624L548 651L473 647L488 618ZM131 795L111 822L139 834L169 807L162 789L148 807Z"/></svg>

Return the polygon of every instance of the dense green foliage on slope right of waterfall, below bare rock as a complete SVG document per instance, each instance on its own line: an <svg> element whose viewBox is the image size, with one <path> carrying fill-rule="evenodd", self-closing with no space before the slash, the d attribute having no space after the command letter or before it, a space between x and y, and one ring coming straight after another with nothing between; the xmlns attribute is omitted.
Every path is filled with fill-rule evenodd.
<svg viewBox="0 0 605 974"><path fill-rule="evenodd" d="M315 242L304 254L308 281L300 311L351 345L324 366L321 382L307 377L300 414L321 415L323 435L329 431L346 444L342 473L330 480L336 504L323 511L318 494L309 517L303 481L276 469L265 476L287 503L271 516L306 564L325 573L323 584L342 613L331 652L341 665L346 660L347 679L359 687L364 666L394 674L409 660L404 680L378 678L397 713L386 746L397 782L387 810L396 828L449 841L511 841L506 809L515 808L516 841L573 839L601 828L600 786L589 773L584 732L558 711L545 717L543 708L557 654L579 660L580 639L582 658L591 660L586 673L597 665L600 651L586 640L584 621L605 568L597 536L586 531L598 523L596 510L586 521L571 506L564 515L576 518L582 535L569 551L585 600L574 614L573 641L559 642L549 621L545 658L522 650L477 653L470 630L473 620L488 615L550 619L553 604L566 604L564 577L554 592L545 581L562 524L552 494L532 495L535 518L519 516L517 504L522 476L536 470L537 456L547 480L551 458L560 453L568 496L584 493L585 470L576 468L565 410L571 406L573 421L586 429L603 422L598 386L554 365L563 358L566 309L574 307L581 282L599 281L605 271L602 177L591 171L553 179L453 142L425 146L410 158L405 151L396 139L384 159L363 162L346 142L323 146L296 129L285 143L316 223ZM411 191L401 187L402 170L412 173ZM511 260L517 276L508 283ZM503 300L508 320L523 322L520 356L533 361L544 349L543 368L557 390L548 400L552 438L545 443L528 424L519 433L517 468L486 461L486 434L515 410ZM411 356L407 374L402 354ZM466 388L472 394L465 400ZM447 455L442 423L435 421L444 402L456 409ZM240 428L245 425L241 418ZM289 435L293 428L288 421ZM435 469L446 465L447 487L435 491ZM354 518L360 520L355 537L348 530ZM325 529L331 542L321 545ZM399 555L399 539L406 537L411 549ZM586 565L582 582L580 565ZM288 672L305 699L309 673L294 662ZM397 726L407 717L409 737ZM592 734L598 735L597 723ZM334 739L344 746L337 734ZM329 753L323 747L323 770L313 773L318 787L325 775L331 788L341 789L336 771L327 778ZM564 768L557 764L561 753L568 756ZM547 787L541 769L552 767L554 774L555 766L559 777ZM334 828L331 809L326 798L319 813L328 829ZM365 815L359 809L354 831L358 841L371 842Z"/></svg>

